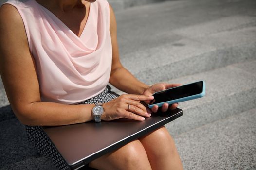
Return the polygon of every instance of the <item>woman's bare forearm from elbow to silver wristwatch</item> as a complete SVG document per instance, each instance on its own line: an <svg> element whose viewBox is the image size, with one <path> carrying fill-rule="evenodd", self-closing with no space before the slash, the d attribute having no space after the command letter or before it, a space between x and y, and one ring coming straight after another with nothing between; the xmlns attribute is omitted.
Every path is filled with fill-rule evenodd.
<svg viewBox="0 0 256 170"><path fill-rule="evenodd" d="M54 102L35 102L16 116L26 125L57 126L93 120L93 104L65 105ZM15 109L14 109L15 110Z"/></svg>

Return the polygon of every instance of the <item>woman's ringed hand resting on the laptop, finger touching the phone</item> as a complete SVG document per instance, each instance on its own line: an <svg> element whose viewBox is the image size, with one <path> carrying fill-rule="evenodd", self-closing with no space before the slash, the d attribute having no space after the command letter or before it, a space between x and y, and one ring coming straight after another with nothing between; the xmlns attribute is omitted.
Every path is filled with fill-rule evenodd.
<svg viewBox="0 0 256 170"><path fill-rule="evenodd" d="M110 121L119 118L128 118L143 121L150 117L146 107L140 101L151 101L153 96L123 94L110 102L103 103L104 112L102 120Z"/></svg>

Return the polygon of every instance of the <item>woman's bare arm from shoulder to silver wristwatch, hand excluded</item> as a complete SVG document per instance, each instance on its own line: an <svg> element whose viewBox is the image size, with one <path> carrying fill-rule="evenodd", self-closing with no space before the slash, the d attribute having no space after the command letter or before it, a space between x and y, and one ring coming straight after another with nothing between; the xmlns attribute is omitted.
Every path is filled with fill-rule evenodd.
<svg viewBox="0 0 256 170"><path fill-rule="evenodd" d="M25 28L11 5L0 8L0 73L17 118L27 125L64 125L93 119L92 104L41 102L35 63Z"/></svg>

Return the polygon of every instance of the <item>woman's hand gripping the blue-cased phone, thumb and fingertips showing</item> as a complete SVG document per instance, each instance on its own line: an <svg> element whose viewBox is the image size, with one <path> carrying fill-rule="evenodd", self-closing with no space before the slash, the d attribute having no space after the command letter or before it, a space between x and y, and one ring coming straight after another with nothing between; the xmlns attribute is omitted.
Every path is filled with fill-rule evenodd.
<svg viewBox="0 0 256 170"><path fill-rule="evenodd" d="M172 88L172 87L177 87L177 86L180 86L182 84L166 84L166 83L157 83L157 84L154 84L154 85L151 85L150 87L148 87L143 95L147 95L147 96L150 96L152 95L153 93L155 92L158 92L158 91L162 91L162 90L166 90L168 88ZM148 101L145 101L146 104L149 104L150 100ZM176 109L176 107L178 106L178 103L174 103L170 106L170 109ZM162 109L161 111L162 112L166 112L169 108L169 104L168 103L164 103L163 106L162 106ZM158 106L155 105L152 107L152 112L156 113L157 110L158 110Z"/></svg>

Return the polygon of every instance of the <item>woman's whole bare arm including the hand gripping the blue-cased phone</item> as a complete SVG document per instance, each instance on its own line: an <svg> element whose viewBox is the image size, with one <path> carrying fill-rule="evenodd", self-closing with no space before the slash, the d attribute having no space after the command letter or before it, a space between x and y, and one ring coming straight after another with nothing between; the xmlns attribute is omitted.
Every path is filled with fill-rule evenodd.
<svg viewBox="0 0 256 170"><path fill-rule="evenodd" d="M110 84L114 85L116 88L128 93L128 94L143 94L150 96L153 93L161 90L165 90L171 87L179 86L181 84L166 84L158 83L152 86L145 85L136 79L126 68L122 66L119 59L118 43L117 43L117 29L116 29L116 19L113 9L110 6L110 34L112 41L112 69L110 75ZM145 101L149 104L150 101ZM177 103L169 106L167 103L163 105L161 110L166 112L168 108L176 109ZM158 111L158 106L152 108L153 112Z"/></svg>

